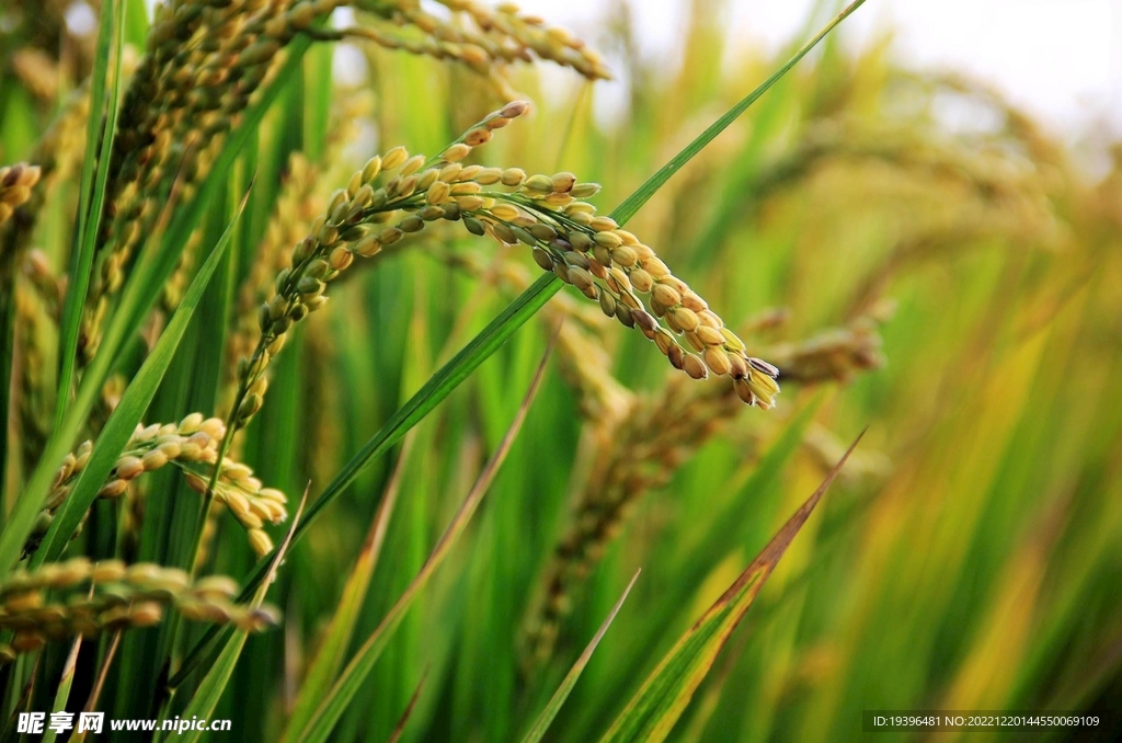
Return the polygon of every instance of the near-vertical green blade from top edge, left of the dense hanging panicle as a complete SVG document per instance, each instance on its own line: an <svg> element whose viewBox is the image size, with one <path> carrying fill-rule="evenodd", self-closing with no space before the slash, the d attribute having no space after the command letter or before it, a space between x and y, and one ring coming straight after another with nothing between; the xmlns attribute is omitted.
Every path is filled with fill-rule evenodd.
<svg viewBox="0 0 1122 743"><path fill-rule="evenodd" d="M120 0L101 6L101 29L98 34L98 55L90 89L90 119L86 126L85 158L82 163L82 192L79 201L79 220L75 229L74 250L71 253L70 281L61 320L58 396L55 425L59 426L71 402L71 384L77 355L77 337L82 327L82 310L90 287L93 254L98 247L101 215L109 183L109 158L117 131L120 110L121 49L125 45L125 7ZM109 76L110 59L113 61ZM112 84L105 101L107 77ZM100 135L100 136L99 136ZM100 149L99 149L100 145ZM100 167L98 164L100 163Z"/></svg>

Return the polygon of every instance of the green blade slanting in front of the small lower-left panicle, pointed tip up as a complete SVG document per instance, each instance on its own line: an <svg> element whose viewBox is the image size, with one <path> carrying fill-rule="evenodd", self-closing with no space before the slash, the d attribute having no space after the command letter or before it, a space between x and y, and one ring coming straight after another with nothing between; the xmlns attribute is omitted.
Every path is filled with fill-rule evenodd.
<svg viewBox="0 0 1122 743"><path fill-rule="evenodd" d="M70 496L63 502L58 514L47 531L47 535L43 540L43 544L33 559L33 565L42 565L44 561L55 561L58 559L66 543L70 541L71 534L82 523L85 512L89 511L93 501L98 497L98 490L101 489L105 477L113 468L113 462L117 460L118 455L120 455L129 437L136 430L137 423L144 416L145 411L148 409L148 403L151 402L153 396L156 394L156 388L164 378L164 373L167 372L168 365L175 357L175 350L178 348L180 340L182 340L183 333L187 329L187 323L191 321L191 317L194 314L195 308L199 305L211 276L214 274L214 269L218 268L226 248L230 244L230 237L233 235L234 226L238 223L238 219L246 208L248 196L249 192L247 191L233 220L222 233L218 245L211 250L210 256L208 256L206 262L199 269L194 281L191 282L191 286L187 287L187 292L175 314L172 315L172 320L167 323L167 328L160 334L151 354L145 359L140 370L137 372L136 377L125 391L121 402L105 422L105 428L94 443L90 461L79 476Z"/></svg>

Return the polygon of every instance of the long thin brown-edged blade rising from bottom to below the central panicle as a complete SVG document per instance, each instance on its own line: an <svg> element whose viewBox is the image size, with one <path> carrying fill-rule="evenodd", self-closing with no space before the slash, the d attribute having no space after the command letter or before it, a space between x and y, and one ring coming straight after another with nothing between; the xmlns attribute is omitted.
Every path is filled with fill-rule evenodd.
<svg viewBox="0 0 1122 743"><path fill-rule="evenodd" d="M537 372L534 374L533 380L530 383L530 389L526 392L522 404L518 407L518 412L515 414L514 421L511 423L511 428L507 429L506 435L503 437L503 441L499 443L495 453L491 455L490 459L484 466L482 471L476 479L475 485L472 485L471 490L468 493L463 503L460 505L459 511L452 519L452 522L448 525L448 529L441 535L440 541L433 548L432 552L429 554L429 559L425 560L424 566L422 566L421 571L416 575L413 581L410 584L405 593L397 599L389 613L386 614L378 627L367 637L366 642L359 649L355 659L343 669L342 675L339 680L331 688L331 691L323 699L320 708L316 709L315 715L307 723L303 730L295 730L289 727L285 735L282 737L284 743L292 743L294 741L300 741L300 743L323 743L331 737L331 732L334 730L335 724L339 718L347 710L348 705L358 694L359 689L362 687L362 682L370 675L374 669L374 664L377 662L381 652L389 644L390 637L394 635L394 631L405 618L405 613L412 606L413 600L421 593L421 589L425 587L429 579L436 571L436 568L444 561L444 559L450 553L452 547L463 534L471 521L471 516L475 515L476 510L482 502L484 496L487 494L488 488L490 488L491 483L495 480L495 476L498 474L499 467L502 467L503 461L506 459L506 455L509 453L511 447L514 444L518 432L522 430L522 424L526 420L526 413L530 411L530 405L537 394L537 389L541 386L542 378L545 375L545 363L549 360L550 351L552 351L553 346L546 349L545 355L542 358L541 364L537 366Z"/></svg>

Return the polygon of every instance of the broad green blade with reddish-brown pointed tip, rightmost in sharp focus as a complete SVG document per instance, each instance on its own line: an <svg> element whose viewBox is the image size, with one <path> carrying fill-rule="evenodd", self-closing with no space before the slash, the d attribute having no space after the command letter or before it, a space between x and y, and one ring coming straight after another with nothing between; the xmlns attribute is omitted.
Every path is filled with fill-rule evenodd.
<svg viewBox="0 0 1122 743"><path fill-rule="evenodd" d="M625 741L657 743L666 739L733 631L752 606L767 577L826 494L834 478L842 471L858 441L861 435L849 446L818 489L783 524L756 559L666 653L604 735L601 743Z"/></svg>

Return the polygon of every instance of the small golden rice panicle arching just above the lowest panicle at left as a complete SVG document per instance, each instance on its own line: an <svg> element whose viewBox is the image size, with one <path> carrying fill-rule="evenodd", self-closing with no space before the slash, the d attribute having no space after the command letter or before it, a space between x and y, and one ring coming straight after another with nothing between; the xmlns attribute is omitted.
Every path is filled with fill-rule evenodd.
<svg viewBox="0 0 1122 743"><path fill-rule="evenodd" d="M217 418L203 419L199 413L187 415L177 424L138 425L113 465L109 479L98 490L98 496L118 498L140 475L167 465L181 469L192 489L204 493L206 480L203 466L213 466L218 461L218 446L224 435L226 425L222 421ZM66 456L55 475L50 497L39 513L25 548L27 552L36 549L50 528L55 514L90 460L92 450L92 442L86 441L76 452ZM246 528L250 547L257 554L267 554L273 550L273 541L263 525L266 522L280 523L287 517L286 498L282 492L264 487L249 467L223 458L219 465L214 497Z"/></svg>

